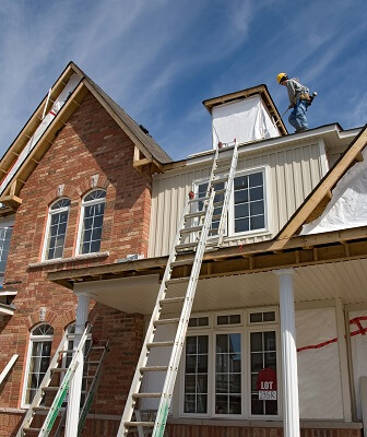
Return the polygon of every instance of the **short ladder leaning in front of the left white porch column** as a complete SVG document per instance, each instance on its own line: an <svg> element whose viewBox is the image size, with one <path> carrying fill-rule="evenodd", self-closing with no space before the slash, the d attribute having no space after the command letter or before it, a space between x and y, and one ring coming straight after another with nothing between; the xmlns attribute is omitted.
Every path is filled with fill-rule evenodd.
<svg viewBox="0 0 367 437"><path fill-rule="evenodd" d="M83 351L86 339L91 332L92 326L87 324L85 328L76 350L69 351L66 346L71 336L75 334L66 333L58 345L56 354L54 355L48 369L45 374L43 381L36 392L36 395L22 422L22 425L16 434L16 437L34 436L47 437L52 429L54 423L59 414L62 403L68 394L70 381L72 380L76 367L79 365L79 357ZM73 353L73 357L68 368L62 368L62 356L68 353ZM52 386L55 378L60 379L60 374L64 374L59 387ZM47 393L55 393L54 401L50 406L43 405L43 400ZM45 416L45 413L47 415ZM34 420L37 418L39 426L32 426ZM44 420L44 421L43 421Z"/></svg>

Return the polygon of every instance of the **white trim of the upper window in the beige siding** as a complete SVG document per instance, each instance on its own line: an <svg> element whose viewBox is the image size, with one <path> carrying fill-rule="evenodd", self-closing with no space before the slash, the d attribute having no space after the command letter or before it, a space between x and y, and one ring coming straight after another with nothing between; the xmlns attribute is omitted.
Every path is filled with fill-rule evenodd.
<svg viewBox="0 0 367 437"><path fill-rule="evenodd" d="M235 174L236 177L252 175L254 173L262 173L262 181L263 181L263 203L264 203L264 227L261 229L252 229L245 231L241 233L235 233L235 190L234 188L230 190L229 204L228 204L228 220L227 220L227 233L225 234L225 240L236 240L239 238L251 237L251 236L260 236L260 235L269 235L271 234L270 229L270 217L269 217L269 199L271 199L270 188L271 185L268 182L270 180L270 167L269 165L261 165L258 167L246 168L242 170L237 170ZM199 179L194 179L192 181L192 191L198 194L199 186L202 184L209 182L209 177L202 177ZM215 238L215 236L210 236L209 239Z"/></svg>

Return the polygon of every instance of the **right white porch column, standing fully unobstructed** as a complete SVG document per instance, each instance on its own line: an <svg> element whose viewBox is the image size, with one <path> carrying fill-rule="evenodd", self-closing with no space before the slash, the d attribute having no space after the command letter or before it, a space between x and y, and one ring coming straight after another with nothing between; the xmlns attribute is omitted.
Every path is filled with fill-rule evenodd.
<svg viewBox="0 0 367 437"><path fill-rule="evenodd" d="M281 343L283 364L284 437L299 437L296 323L292 269L277 270L280 281Z"/></svg>

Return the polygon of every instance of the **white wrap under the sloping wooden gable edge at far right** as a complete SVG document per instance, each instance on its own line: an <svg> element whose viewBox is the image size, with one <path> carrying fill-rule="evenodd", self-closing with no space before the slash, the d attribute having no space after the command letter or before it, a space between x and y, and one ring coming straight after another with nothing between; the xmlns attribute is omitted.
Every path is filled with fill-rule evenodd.
<svg viewBox="0 0 367 437"><path fill-rule="evenodd" d="M323 214L304 225L301 235L319 234L367 225L367 150L364 161L356 163L340 179Z"/></svg>

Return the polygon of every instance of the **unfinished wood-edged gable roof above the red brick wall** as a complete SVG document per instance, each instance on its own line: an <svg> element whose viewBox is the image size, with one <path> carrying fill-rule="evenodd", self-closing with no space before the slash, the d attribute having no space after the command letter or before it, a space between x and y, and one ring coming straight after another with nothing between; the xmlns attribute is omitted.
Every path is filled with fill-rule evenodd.
<svg viewBox="0 0 367 437"><path fill-rule="evenodd" d="M117 105L116 102L114 102L98 85L84 74L75 63L69 62L61 75L55 82L54 86L50 88L49 94L40 102L34 114L24 125L23 129L3 155L0 162L0 173L3 175L3 178L9 175L22 152L24 155L28 141L35 134L37 128L43 121L43 114L49 113L54 102L61 94L73 74L79 76L79 83L68 96L66 103L57 113L54 120L47 126L39 140L37 140L35 146L28 154L26 154L25 158L23 158L24 161L21 162L19 168L16 170L13 169L14 175L12 175L8 184L4 184L2 192L0 193L0 202L12 208L16 208L22 202L19 197L22 187L25 185L34 168L38 165L39 161L52 144L58 131L67 123L68 119L81 105L83 98L88 92L91 92L103 105L107 113L134 143L135 150L138 150L137 161L139 161L141 153L144 157L141 162L143 162L143 164L152 164L155 168L161 168L162 164L171 162L168 154L152 139L152 137L144 133L138 123L119 105Z"/></svg>

